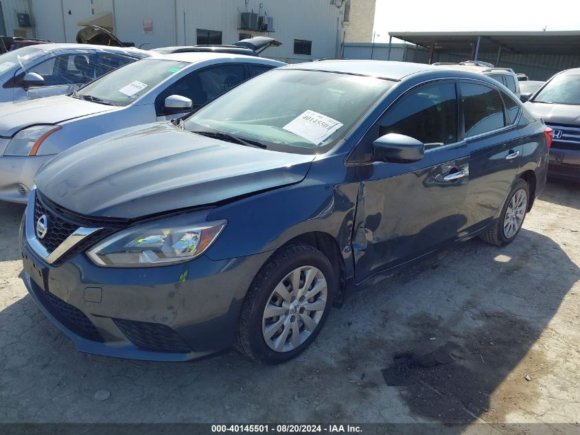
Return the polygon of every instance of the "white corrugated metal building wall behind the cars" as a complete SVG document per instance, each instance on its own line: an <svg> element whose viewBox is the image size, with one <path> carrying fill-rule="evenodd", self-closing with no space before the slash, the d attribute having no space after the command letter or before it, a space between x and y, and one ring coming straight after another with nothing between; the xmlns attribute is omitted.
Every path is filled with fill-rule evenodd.
<svg viewBox="0 0 580 435"><path fill-rule="evenodd" d="M360 1L360 0L356 0ZM16 13L31 14L34 27L26 36L74 42L76 23L91 14L113 12L114 32L121 41L145 49L167 45L195 45L197 29L219 30L222 43L239 40L240 33L272 36L281 47L264 55L297 63L340 56L344 1L335 0L0 0L6 33L14 34ZM374 1L373 8L374 8ZM263 8L260 8L260 5ZM374 9L373 9L374 10ZM69 14L69 11L71 12ZM257 12L274 18L275 32L247 32L240 27L240 12ZM354 11L353 11L354 12ZM355 12L356 14L356 12ZM153 22L153 32L143 32L143 21ZM372 32L372 23L371 23ZM294 39L312 41L310 56L294 54Z"/></svg>

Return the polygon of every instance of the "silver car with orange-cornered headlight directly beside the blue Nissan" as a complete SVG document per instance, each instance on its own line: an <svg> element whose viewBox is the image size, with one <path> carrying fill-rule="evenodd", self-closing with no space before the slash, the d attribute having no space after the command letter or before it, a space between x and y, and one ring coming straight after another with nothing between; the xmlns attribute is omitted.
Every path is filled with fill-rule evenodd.
<svg viewBox="0 0 580 435"><path fill-rule="evenodd" d="M25 203L36 170L79 142L178 118L248 77L281 65L286 64L234 54L156 55L68 96L0 105L0 200Z"/></svg>

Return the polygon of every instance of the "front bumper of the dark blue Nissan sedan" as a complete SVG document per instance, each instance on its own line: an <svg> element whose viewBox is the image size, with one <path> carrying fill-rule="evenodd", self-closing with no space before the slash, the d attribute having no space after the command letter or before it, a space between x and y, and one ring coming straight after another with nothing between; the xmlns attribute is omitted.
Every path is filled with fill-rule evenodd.
<svg viewBox="0 0 580 435"><path fill-rule="evenodd" d="M30 295L78 350L151 361L185 361L231 348L246 291L269 255L117 269L78 254L53 267L23 234L21 241Z"/></svg>

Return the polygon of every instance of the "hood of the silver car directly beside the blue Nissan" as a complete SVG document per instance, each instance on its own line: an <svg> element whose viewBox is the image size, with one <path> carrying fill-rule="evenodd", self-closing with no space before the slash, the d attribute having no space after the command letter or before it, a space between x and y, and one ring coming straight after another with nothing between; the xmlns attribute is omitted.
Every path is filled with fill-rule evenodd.
<svg viewBox="0 0 580 435"><path fill-rule="evenodd" d="M0 136L10 137L16 131L35 124L56 124L114 109L113 106L67 96L8 102L0 104Z"/></svg>

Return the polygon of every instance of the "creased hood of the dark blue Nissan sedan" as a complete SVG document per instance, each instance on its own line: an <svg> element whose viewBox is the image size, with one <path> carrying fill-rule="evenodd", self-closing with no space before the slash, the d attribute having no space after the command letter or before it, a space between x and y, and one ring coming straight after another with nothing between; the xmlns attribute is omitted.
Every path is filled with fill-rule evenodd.
<svg viewBox="0 0 580 435"><path fill-rule="evenodd" d="M136 219L298 183L314 157L155 123L73 147L43 166L34 181L45 197L72 212Z"/></svg>

